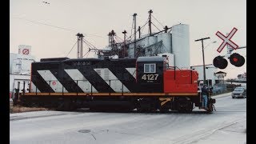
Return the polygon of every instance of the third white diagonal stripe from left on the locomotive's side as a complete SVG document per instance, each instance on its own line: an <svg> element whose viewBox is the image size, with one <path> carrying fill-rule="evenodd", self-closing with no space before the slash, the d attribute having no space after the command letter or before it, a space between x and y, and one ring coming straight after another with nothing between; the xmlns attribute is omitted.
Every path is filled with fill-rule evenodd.
<svg viewBox="0 0 256 144"><path fill-rule="evenodd" d="M118 78L108 68L94 70L115 92L122 92L122 82L120 82ZM123 85L123 92L130 92L130 90L128 90L126 86Z"/></svg>

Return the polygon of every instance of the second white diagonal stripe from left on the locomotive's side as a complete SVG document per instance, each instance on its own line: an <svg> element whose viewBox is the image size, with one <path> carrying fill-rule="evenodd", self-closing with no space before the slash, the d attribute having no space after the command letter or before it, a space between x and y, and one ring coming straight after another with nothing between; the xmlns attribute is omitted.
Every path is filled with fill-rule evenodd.
<svg viewBox="0 0 256 144"><path fill-rule="evenodd" d="M81 74L78 69L66 69L67 74L70 75L70 78L74 80L74 82L78 81L78 86L86 93L98 93L98 91L90 84L90 82ZM92 86L92 90L91 90Z"/></svg>

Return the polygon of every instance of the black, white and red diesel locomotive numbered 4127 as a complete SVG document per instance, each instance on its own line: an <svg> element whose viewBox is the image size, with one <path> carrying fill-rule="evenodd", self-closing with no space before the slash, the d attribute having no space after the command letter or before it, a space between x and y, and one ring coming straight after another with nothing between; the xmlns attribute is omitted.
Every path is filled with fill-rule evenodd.
<svg viewBox="0 0 256 144"><path fill-rule="evenodd" d="M169 66L165 56L42 58L31 64L30 88L15 94L23 106L191 112L201 108L198 72ZM25 85L23 85L25 86ZM208 98L208 112L214 98Z"/></svg>

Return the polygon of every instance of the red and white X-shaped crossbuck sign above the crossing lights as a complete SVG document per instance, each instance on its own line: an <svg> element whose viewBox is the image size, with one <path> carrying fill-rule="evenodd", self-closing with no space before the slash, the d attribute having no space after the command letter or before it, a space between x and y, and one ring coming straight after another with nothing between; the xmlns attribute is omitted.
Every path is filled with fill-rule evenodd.
<svg viewBox="0 0 256 144"><path fill-rule="evenodd" d="M233 37L234 33L237 32L237 31L238 31L238 29L234 27L233 30L231 30L230 34L227 37L219 31L216 33L216 35L219 38L222 38L222 40L223 40L221 46L219 46L218 49L217 49L217 51L219 53L224 49L224 47L226 45L230 45L234 50L236 50L238 48L238 45L230 40Z"/></svg>

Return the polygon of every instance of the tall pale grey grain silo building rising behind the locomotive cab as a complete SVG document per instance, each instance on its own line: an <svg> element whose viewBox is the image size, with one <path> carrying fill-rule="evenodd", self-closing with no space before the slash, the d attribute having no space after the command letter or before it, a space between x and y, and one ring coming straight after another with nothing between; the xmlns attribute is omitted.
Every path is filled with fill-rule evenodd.
<svg viewBox="0 0 256 144"><path fill-rule="evenodd" d="M173 66L180 69L190 68L190 32L186 24L178 24L171 27L170 32L162 34L147 34L138 38L137 42L130 42L128 56L134 58L134 45L138 48L136 54L142 56L153 56L169 53L173 59ZM135 56L136 57L136 56Z"/></svg>

